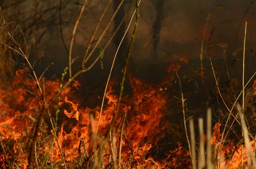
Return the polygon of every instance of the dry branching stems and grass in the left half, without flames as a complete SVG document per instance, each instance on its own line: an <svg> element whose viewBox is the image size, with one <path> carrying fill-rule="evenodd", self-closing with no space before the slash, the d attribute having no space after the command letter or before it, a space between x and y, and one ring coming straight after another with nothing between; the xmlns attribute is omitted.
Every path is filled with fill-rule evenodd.
<svg viewBox="0 0 256 169"><path fill-rule="evenodd" d="M122 5L123 2L124 1L122 1L120 3L119 7ZM81 140L79 149L75 150L75 151L79 152L79 158L78 159L73 159L71 162L69 162L67 164L67 163L65 163L65 161L68 157L64 157L61 154L62 160L59 161L58 163L56 163L56 162L53 162L51 160L51 156L49 155L55 141L57 142L58 147L59 147L60 152L61 152L61 146L59 145L59 141L58 141L58 138L57 138L57 122L56 122L58 120L58 112L59 112L59 106L60 106L60 97L59 96L64 91L64 89L67 86L69 86L69 84L71 82L73 82L73 80L75 80L75 78L77 76L79 76L79 74L82 74L84 72L89 71L95 65L95 63L99 60L99 58L104 53L108 44L113 39L114 35L118 31L119 27L121 26L121 24L123 23L125 18L128 16L128 13L131 10L131 6L132 6L131 5L130 8L128 9L128 11L126 12L125 17L123 18L122 22L119 24L118 29L116 29L115 32L112 34L112 36L109 38L107 44L101 50L101 53L99 54L99 56L96 57L96 59L93 61L93 63L91 63L89 66L87 66L86 63L88 62L88 60L92 56L96 47L101 42L102 38L105 36L106 31L108 30L109 26L111 25L111 23L113 21L113 18L115 17L117 11L119 10L119 7L118 7L116 9L116 11L114 12L113 16L111 17L111 20L109 21L105 30L102 32L99 40L96 40L96 45L93 46L93 49L89 52L90 46L92 45L92 42L94 41L94 35L96 34L96 31L97 31L97 29L98 29L98 27L99 27L99 25L102 21L102 18L105 15L105 12L107 11L108 6L109 6L110 3L111 3L111 0L109 0L108 5L106 6L105 10L102 12L102 15L101 15L101 17L100 17L100 19L97 23L95 31L93 32L93 34L91 36L91 39L90 39L90 42L88 44L87 50L86 50L86 52L84 54L84 57L83 57L83 61L81 62L81 70L78 71L78 72L75 72L73 74L71 67L72 67L72 63L74 62L74 59L71 55L71 52L72 52L74 37L75 37L75 34L76 34L76 28L79 24L81 15L82 15L82 13L84 11L84 8L87 4L87 0L84 1L84 5L81 8L79 17L77 18L76 24L75 24L74 29L73 29L73 34L72 34L71 43L70 43L70 52L69 52L69 56L68 56L68 58L69 58L68 66L64 69L64 72L62 74L58 93L52 98L52 100L50 100L48 102L46 101L46 94L45 94L46 92L45 92L45 89L44 89L45 84L44 84L43 74L38 76L35 73L34 69L33 69L33 65L29 62L28 52L26 51L25 37L24 37L24 42L23 42L24 46L21 46L22 44L15 40L14 36L15 36L15 31L16 30L20 31L21 34L23 34L23 32L20 29L20 26L15 25L14 23L8 23L6 21L6 16L1 13L1 20L0 20L1 21L1 25L0 25L0 31L1 31L0 43L2 44L1 47L5 50L5 52L7 54L8 54L7 51L13 51L13 52L16 52L17 54L19 54L20 56L22 56L24 60L26 60L26 63L27 63L26 66L32 71L32 78L37 83L38 89L41 92L41 98L39 98L39 99L41 99L44 103L43 109L41 110L40 113L38 112L39 114L37 115L37 118L35 119L33 117L30 117L36 123L34 137L32 139L32 142L29 141L30 140L29 139L30 134L27 133L27 139L25 139L27 141L26 141L26 143L23 143L22 145L18 144L18 149L20 149L18 151L18 150L10 149L11 147L15 146L14 145L15 143L13 143L13 141L15 141L15 140L13 140L13 141L9 140L7 142L5 140L5 143L3 143L2 142L2 137L1 137L1 146L2 146L1 152L4 152L4 155L1 157L2 158L2 167L4 167L4 168L5 167L15 168L15 166L16 166L16 167L21 167L21 168L27 167L28 169L29 168L35 168L35 167L36 168L59 168L59 167L61 167L61 168L66 168L66 169L67 168L95 168L95 169L98 169L98 168L102 168L102 166L105 165L104 162L103 162L103 160L105 159L105 156L108 156L108 159L109 159L109 162L106 165L106 166L108 166L107 168L112 168L113 167L113 168L116 169L117 166L119 166L119 168L123 167L124 164L122 164L120 160L118 161L118 164L117 164L117 160L116 160L117 159L116 149L117 149L118 146L116 145L117 144L116 143L116 133L112 129L112 125L115 121L115 117L113 118L113 121L109 126L109 130L108 130L108 132L107 132L107 134L106 134L106 136L103 140L102 140L102 136L97 135L97 132L93 127L94 124L93 124L93 120L92 120L92 117L91 117L91 121L90 121L90 123L91 123L91 141L90 142L91 143L84 143L84 141ZM129 60L129 57L131 55L131 47L132 47L132 44L134 42L134 37L135 37L137 26L138 26L139 3L140 2L138 0L135 3L136 10L134 11L134 13L136 13L136 22L135 22L134 33L133 33L133 36L132 36L132 39L131 39L129 51L128 51L128 54L127 54L127 64L125 66L125 69L127 69L127 66L128 66L128 60ZM132 18L131 18L131 20L132 20ZM12 25L12 27L14 28L14 31L10 30L9 25ZM9 39L10 42L6 42L5 41L6 39ZM24 52L24 49L25 49L25 52ZM3 55L4 53L1 53L1 54ZM11 58L11 55L10 54L7 55L7 54L6 54L5 57L1 57L1 59L3 61L3 62L1 62L1 64L6 64L6 65L1 66L1 69L2 69L1 71L5 72L5 73L9 72L10 70L8 70L8 69L12 68L12 66L10 66L10 62L6 61L7 59ZM111 71L112 71L112 69L111 69ZM66 74L69 74L69 80L66 83L64 83L63 80L64 80L64 76ZM124 73L124 77L125 77L125 73ZM4 75L2 75L1 79L6 80L7 78ZM124 79L125 78L123 78L121 89L123 89ZM122 95L122 93L120 94L120 96L121 95ZM55 103L56 99L58 100L57 105L56 105L56 111L55 111L55 114L56 114L55 120L56 121L52 121L51 115L49 113L49 111L50 111L49 108L52 104L56 104ZM119 103L120 103L120 99L119 99L118 104ZM118 108L119 108L119 106L117 106L116 112L118 111ZM42 125L44 124L44 117L45 117L45 115L47 115L47 113L49 114L49 118L51 120L52 125L47 126L46 128L50 127L50 128L53 129L53 132L54 132L53 137L41 137L41 136L38 137L39 132L41 133L41 135L44 135L44 132L42 132L42 131L46 131L46 129L42 128ZM125 118L124 118L124 122L122 123L122 130L121 130L121 136L120 136L121 140L122 140L122 137L125 137L125 133L123 132L124 124L125 124ZM120 127L121 127L121 124L120 124L119 128ZM92 139L92 138L94 138L94 139ZM24 137L23 137L23 139L24 139ZM20 141L23 141L23 140L20 140ZM93 145L93 150L92 150L92 152L90 152L90 156L88 155L85 144L92 144ZM13 146L11 146L11 145L13 145ZM44 155L44 147L47 146L47 145L49 145L49 150L47 151L46 155ZM83 149L83 151L81 151L81 149ZM121 149L121 146L120 146L120 149ZM10 153L12 153L13 151L18 152L18 153L11 155ZM110 152L110 153L108 153L108 152ZM22 156L21 156L21 153L23 154ZM120 150L119 150L119 153L120 153ZM15 157L18 157L18 158L16 159ZM21 161L21 157L22 157L22 161ZM121 158L121 155L119 154L119 159L120 158ZM134 160L134 159L131 158L130 161L132 161L132 160ZM126 160L126 161L128 163L131 163L131 166L134 166L133 162L129 162L129 160ZM23 167L21 166L21 163L24 163ZM135 167L136 167L136 165L135 165Z"/></svg>

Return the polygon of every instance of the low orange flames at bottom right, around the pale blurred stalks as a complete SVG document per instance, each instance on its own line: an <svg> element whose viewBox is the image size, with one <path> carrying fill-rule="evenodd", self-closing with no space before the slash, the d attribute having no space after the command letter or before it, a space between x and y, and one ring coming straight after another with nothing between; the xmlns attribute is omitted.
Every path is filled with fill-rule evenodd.
<svg viewBox="0 0 256 169"><path fill-rule="evenodd" d="M243 157L243 167L248 169L248 158L247 150L245 146L242 146L241 143L235 145L231 140L228 140L226 143L221 141L222 133L220 130L221 123L216 123L213 127L213 133L210 140L212 146L212 163L215 165L215 169L231 169L231 168L242 168L241 159ZM205 140L204 140L205 141ZM164 163L166 166L178 169L192 169L192 161L190 159L190 153L182 146L180 142L177 143L178 148L169 153L166 153L168 156ZM250 141L250 151L255 152L255 141ZM243 148L243 154L241 154L241 149ZM207 150L209 151L209 150ZM254 153L253 153L254 154ZM254 154L255 155L255 154ZM207 161L206 161L207 163Z"/></svg>

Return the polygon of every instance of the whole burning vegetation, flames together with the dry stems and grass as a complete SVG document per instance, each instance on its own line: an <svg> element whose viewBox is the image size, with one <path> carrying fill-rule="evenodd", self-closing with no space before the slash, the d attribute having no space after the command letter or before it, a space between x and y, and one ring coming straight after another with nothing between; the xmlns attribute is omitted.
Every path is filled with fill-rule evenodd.
<svg viewBox="0 0 256 169"><path fill-rule="evenodd" d="M223 94L218 77L215 74L215 65L212 64L211 60L211 39L214 33L214 29L212 29L207 48L211 63L208 68L212 69L214 77L215 94L218 101L218 110L215 111L219 113L220 118L212 123L214 117L211 109L205 109L207 110L205 121L203 118L188 117L189 110L182 92L182 80L186 77L180 78L179 71L183 66L195 65L190 63L185 56L172 55L172 59L168 60L170 64L166 68L168 75L160 85L146 83L144 80L132 76L128 61L139 23L139 0L137 0L134 10L133 17L136 17L136 21L126 64L122 68L123 76L120 86L118 80L110 78L111 68L104 97L97 98L102 101L102 105L93 108L83 106L79 97L82 86L76 78L80 74L90 71L94 64L102 59L104 50L116 33L113 33L106 46L103 49L101 48L99 56L94 60L91 56L105 36L112 20L109 21L99 40L96 40L96 44L93 44L95 43L93 42L93 34L82 57L81 69L73 72L72 64L76 62L76 58L72 57L73 41L77 24L86 3L87 0L81 8L76 26L73 29L68 65L62 73L62 77L53 76L50 79L44 77L44 73L49 67L43 74L37 75L34 65L30 63L25 41L25 46L22 46L20 42L15 40L14 35L17 30L20 30L25 40L22 29L14 23L7 23L6 16L1 13L0 47L4 49L3 52L8 53L6 55L8 57L11 54L19 54L24 60L24 68L15 71L15 74L10 76L9 83L0 84L0 168L256 168L256 130L254 129L256 114L252 104L255 100L254 95L256 95L256 80L254 80L252 89L245 90L249 82L255 79L254 75L256 73L253 74L248 83L244 83L243 77L243 89L238 91L234 89L238 87L237 79L230 79L227 69L229 79L227 86L229 88L227 94ZM108 5L106 9L108 9ZM204 71L208 68L204 68L202 62L204 59L203 44L206 41L205 31L214 9L210 11L207 17L201 46L201 66L198 67L198 72L195 72L202 78L205 89L207 88L207 81L204 81ZM129 8L129 10L131 9ZM103 11L102 17L104 14L105 11ZM128 14L125 14L125 17L127 16ZM115 14L113 17L115 17ZM223 43L219 43L218 46L223 49L223 57L227 68L225 55L227 46ZM245 46L243 49L245 52ZM4 55L4 53L1 53L1 55ZM4 69L11 69L11 61L8 59L3 59L3 61L5 63L1 63L3 65L1 72L4 72ZM113 60L114 62L115 60ZM1 80L6 81L7 77L8 75L5 74ZM131 94L123 91L125 80L130 84ZM180 118L182 123L178 124L181 130L175 130L175 125L170 127L169 124L172 119L166 118L169 116L167 104L170 101L167 91L170 88L172 88L172 91L177 90L174 85L178 85L180 98L177 98L178 101L176 102L171 101L173 101L173 104L181 106L181 112L178 114L179 117L182 117ZM198 88L198 85L196 86ZM120 87L120 90L118 90L118 87ZM240 96L242 100L239 99ZM220 102L223 104L220 104ZM207 105L207 107L210 106ZM216 107L212 106L212 109L214 110ZM245 112L250 113L246 115ZM206 127L204 128L204 126ZM157 145L161 144L161 140L164 139L165 135L169 135L170 131L178 131L177 137L183 140L175 142L175 148L169 147L170 144L164 146L165 150L162 149L164 155L154 155L153 149L157 149L156 154L158 154ZM184 137L180 138L180 135Z"/></svg>

